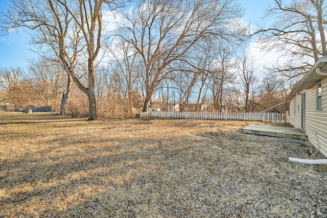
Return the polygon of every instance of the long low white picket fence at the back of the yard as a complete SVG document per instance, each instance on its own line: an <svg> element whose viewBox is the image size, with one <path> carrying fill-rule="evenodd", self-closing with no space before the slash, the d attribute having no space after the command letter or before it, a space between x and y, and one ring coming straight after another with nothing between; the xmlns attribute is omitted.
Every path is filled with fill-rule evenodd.
<svg viewBox="0 0 327 218"><path fill-rule="evenodd" d="M176 119L220 119L220 120L261 120L269 123L290 123L290 117L282 113L259 112L174 112L147 111L142 112L140 118L176 118Z"/></svg>

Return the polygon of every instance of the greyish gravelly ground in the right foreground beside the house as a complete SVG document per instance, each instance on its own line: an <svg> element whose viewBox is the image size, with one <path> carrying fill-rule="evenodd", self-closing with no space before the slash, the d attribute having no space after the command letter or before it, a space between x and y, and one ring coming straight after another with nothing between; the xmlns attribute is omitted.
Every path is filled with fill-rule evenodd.
<svg viewBox="0 0 327 218"><path fill-rule="evenodd" d="M238 130L194 135L183 148L168 141L139 157L149 172L66 215L327 217L326 166L288 161L308 158L302 140Z"/></svg>

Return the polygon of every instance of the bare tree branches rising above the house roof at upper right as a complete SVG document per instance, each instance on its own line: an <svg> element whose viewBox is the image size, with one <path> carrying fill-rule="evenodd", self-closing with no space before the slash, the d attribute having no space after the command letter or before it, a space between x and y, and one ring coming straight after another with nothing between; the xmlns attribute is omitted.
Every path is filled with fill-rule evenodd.
<svg viewBox="0 0 327 218"><path fill-rule="evenodd" d="M275 17L268 28L261 27L262 49L283 52L283 65L267 66L275 75L291 79L307 72L320 56L326 54L323 0L274 0L267 17Z"/></svg>

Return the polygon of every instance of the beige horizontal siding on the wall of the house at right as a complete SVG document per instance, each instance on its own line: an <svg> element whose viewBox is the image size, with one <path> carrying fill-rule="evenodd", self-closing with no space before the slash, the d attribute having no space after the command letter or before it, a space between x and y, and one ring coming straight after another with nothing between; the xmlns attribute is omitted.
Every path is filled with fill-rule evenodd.
<svg viewBox="0 0 327 218"><path fill-rule="evenodd" d="M316 110L316 85L307 90L306 134L308 140L327 157L327 77L322 80L321 110Z"/></svg>

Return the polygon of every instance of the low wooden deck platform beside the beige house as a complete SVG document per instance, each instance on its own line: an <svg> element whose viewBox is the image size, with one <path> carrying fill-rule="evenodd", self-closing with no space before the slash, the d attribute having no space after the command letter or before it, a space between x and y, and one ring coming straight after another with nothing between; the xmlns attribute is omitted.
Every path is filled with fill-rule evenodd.
<svg viewBox="0 0 327 218"><path fill-rule="evenodd" d="M255 134L255 135L267 135L283 138L294 138L294 139L306 139L306 134L300 129L291 127L274 127L251 124L242 129L243 133Z"/></svg>

